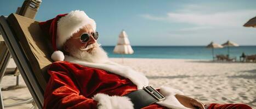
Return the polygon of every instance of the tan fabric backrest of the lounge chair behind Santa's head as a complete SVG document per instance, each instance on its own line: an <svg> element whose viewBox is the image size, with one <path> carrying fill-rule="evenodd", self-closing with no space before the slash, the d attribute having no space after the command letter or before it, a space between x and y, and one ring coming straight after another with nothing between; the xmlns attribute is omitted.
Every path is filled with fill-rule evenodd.
<svg viewBox="0 0 256 109"><path fill-rule="evenodd" d="M38 25L39 22L33 19L11 14L7 20L12 26L40 86L44 90L48 81L46 70L47 66L52 63L50 54L53 51L48 46L50 43L47 36L45 36L46 34L41 31Z"/></svg>

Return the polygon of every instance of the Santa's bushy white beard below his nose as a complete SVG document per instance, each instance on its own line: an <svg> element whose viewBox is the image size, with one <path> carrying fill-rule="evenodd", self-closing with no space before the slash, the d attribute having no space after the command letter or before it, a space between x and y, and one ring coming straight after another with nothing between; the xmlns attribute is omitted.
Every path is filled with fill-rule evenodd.
<svg viewBox="0 0 256 109"><path fill-rule="evenodd" d="M90 52L87 50L93 48ZM91 63L104 63L109 60L107 53L100 47L98 43L90 44L85 49L72 48L69 52L71 56L78 59L86 60Z"/></svg>

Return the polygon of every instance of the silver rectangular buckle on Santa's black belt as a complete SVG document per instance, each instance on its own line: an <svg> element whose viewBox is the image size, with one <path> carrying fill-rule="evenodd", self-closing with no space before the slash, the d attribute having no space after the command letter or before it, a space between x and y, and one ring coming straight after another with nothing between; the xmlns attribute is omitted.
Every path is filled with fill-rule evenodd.
<svg viewBox="0 0 256 109"><path fill-rule="evenodd" d="M162 101L166 99L164 95L162 95L160 92L158 92L156 89L152 88L151 86L144 86L143 89L146 90L147 93L149 93L151 96L153 96L153 98L157 99L158 101ZM156 96L155 94L160 95L161 98L158 98L158 96Z"/></svg>

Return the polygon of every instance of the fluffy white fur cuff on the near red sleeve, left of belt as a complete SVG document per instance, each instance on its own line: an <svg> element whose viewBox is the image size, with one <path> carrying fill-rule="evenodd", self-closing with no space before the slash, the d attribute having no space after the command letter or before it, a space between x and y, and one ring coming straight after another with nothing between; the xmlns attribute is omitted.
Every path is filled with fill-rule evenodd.
<svg viewBox="0 0 256 109"><path fill-rule="evenodd" d="M109 96L103 93L98 93L93 96L95 101L98 101L99 109L132 109L133 103L127 96Z"/></svg>

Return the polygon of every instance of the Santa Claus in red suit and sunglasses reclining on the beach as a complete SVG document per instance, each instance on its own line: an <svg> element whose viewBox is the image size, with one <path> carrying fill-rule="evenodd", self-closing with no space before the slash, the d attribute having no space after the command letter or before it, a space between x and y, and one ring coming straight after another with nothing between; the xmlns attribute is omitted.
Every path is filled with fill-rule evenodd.
<svg viewBox="0 0 256 109"><path fill-rule="evenodd" d="M204 105L178 89L153 89L143 73L109 60L97 43L95 21L84 11L60 14L39 26L55 50L43 108L251 108Z"/></svg>

